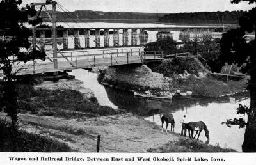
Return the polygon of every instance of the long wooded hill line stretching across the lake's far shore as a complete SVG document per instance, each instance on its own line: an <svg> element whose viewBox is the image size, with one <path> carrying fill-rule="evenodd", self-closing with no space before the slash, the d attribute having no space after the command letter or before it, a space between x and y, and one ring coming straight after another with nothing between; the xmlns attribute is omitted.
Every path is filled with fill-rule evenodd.
<svg viewBox="0 0 256 165"><path fill-rule="evenodd" d="M51 12L51 11L49 11ZM74 22L163 22L179 24L238 24L238 19L244 11L232 12L194 12L194 13L139 13L139 12L102 12L93 10L76 10L74 12L57 12L58 20ZM44 19L47 14L42 12ZM219 19L220 22L219 22Z"/></svg>

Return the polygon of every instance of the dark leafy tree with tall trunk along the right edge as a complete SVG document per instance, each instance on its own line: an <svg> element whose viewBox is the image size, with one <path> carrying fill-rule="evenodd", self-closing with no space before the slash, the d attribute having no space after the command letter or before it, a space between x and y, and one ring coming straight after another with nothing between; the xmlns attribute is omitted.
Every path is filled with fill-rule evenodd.
<svg viewBox="0 0 256 165"><path fill-rule="evenodd" d="M232 0L232 3L247 1L253 4L255 0ZM220 40L221 54L219 60L225 62L238 63L242 65L243 72L250 74L247 89L250 91L250 108L248 111L248 121L242 145L243 152L256 152L256 8L244 13L239 19L239 28L230 29L223 34ZM255 38L252 41L246 40L246 33L254 32Z"/></svg>

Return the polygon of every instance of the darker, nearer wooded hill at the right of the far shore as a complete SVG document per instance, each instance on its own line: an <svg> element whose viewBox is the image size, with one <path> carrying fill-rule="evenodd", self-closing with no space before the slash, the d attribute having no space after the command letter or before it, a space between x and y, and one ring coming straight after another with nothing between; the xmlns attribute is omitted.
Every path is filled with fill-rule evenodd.
<svg viewBox="0 0 256 165"><path fill-rule="evenodd" d="M164 23L189 23L189 24L238 24L239 17L244 11L232 12L195 12L195 13L169 13L159 19ZM219 22L220 20L220 22Z"/></svg>

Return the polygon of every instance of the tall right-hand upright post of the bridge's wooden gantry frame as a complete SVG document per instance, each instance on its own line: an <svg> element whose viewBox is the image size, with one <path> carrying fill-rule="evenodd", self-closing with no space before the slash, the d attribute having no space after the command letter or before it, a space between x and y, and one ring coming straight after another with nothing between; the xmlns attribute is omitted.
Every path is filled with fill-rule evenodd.
<svg viewBox="0 0 256 165"><path fill-rule="evenodd" d="M52 47L53 47L53 68L58 68L57 61L57 34L56 34L56 2L52 1Z"/></svg>

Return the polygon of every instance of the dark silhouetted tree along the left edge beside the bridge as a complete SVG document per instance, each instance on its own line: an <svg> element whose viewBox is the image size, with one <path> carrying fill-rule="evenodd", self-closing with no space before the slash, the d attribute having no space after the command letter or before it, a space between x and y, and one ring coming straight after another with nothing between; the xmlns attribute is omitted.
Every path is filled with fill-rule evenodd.
<svg viewBox="0 0 256 165"><path fill-rule="evenodd" d="M17 63L26 63L29 60L45 60L45 53L32 49L22 52L21 49L29 50L31 43L29 36L31 31L26 24L35 25L40 19L28 20L33 17L36 11L29 6L20 8L22 0L6 0L0 2L0 71L4 74L3 93L0 102L0 111L7 113L12 120L12 127L15 130L17 123L17 72L22 68L14 67ZM15 69L16 68L16 69Z"/></svg>

